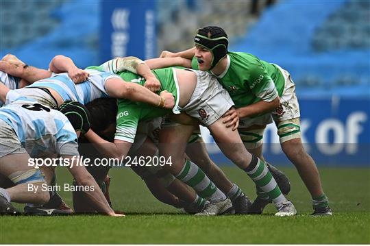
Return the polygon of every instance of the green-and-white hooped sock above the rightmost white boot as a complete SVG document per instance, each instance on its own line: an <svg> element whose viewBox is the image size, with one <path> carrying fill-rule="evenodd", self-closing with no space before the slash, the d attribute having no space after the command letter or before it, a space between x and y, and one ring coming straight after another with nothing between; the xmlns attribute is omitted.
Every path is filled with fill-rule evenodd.
<svg viewBox="0 0 370 246"><path fill-rule="evenodd" d="M271 175L269 169L267 169L267 165L264 161L260 160L260 158L253 156L245 172L264 193L267 193L267 195L271 197L275 207L278 207L283 201L286 201L275 179Z"/></svg>

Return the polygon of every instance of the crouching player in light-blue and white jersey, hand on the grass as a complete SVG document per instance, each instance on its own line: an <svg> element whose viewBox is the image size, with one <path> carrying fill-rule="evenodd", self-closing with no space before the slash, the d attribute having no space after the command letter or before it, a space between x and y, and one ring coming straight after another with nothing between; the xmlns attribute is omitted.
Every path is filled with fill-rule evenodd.
<svg viewBox="0 0 370 246"><path fill-rule="evenodd" d="M9 90L3 84L0 84L0 88ZM1 96L1 100L5 98ZM65 163L69 163L69 171L78 184L84 186L83 190L99 212L121 216L110 208L85 167L76 165L75 157L79 156L77 136L90 129L87 110L80 103L67 102L61 106L61 111L22 96L0 108L0 170L15 184L11 188L0 188L0 212L16 212L10 201L29 204L45 204L49 201L49 191L42 173L29 165L31 158L49 153L50 156L58 154Z"/></svg>

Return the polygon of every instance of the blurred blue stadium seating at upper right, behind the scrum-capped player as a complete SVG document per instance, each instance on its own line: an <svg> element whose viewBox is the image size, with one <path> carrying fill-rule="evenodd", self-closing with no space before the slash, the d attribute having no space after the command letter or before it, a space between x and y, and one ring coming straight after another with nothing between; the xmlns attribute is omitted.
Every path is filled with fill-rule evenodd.
<svg viewBox="0 0 370 246"><path fill-rule="evenodd" d="M370 97L369 1L281 1L230 50L288 70L297 93Z"/></svg>

